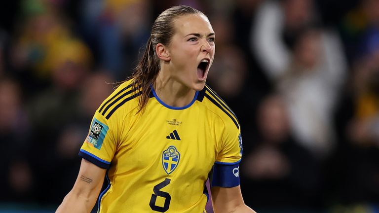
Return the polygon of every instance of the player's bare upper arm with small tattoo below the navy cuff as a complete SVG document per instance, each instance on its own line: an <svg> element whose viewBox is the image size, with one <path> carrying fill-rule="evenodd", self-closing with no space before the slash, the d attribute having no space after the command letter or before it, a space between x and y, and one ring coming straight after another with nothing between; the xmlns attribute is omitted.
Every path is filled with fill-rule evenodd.
<svg viewBox="0 0 379 213"><path fill-rule="evenodd" d="M91 200L94 197L96 200L103 185L106 171L106 169L82 159L73 192L82 198Z"/></svg>

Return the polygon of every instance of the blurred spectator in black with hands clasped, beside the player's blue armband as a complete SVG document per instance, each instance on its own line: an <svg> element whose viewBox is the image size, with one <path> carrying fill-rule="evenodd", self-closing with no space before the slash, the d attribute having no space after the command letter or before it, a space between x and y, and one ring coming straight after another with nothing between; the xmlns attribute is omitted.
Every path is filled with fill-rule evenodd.
<svg viewBox="0 0 379 213"><path fill-rule="evenodd" d="M285 211L320 206L320 174L315 158L291 135L287 107L277 94L259 105L259 135L244 146L242 174L247 204ZM246 147L246 148L245 148Z"/></svg>

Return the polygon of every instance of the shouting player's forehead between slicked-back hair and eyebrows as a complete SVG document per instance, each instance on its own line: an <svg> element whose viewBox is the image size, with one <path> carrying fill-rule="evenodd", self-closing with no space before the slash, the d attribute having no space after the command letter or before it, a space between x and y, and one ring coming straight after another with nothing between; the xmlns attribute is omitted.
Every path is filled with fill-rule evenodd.
<svg viewBox="0 0 379 213"><path fill-rule="evenodd" d="M183 36L193 33L198 33L202 36L214 33L208 18L201 14L189 14L177 17L174 21L174 29L175 33Z"/></svg>

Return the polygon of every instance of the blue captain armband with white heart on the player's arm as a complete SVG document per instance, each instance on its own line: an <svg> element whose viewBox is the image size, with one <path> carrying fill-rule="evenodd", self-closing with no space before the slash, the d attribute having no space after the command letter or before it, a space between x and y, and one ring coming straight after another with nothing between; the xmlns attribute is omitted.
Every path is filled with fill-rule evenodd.
<svg viewBox="0 0 379 213"><path fill-rule="evenodd" d="M239 161L235 163L216 162L213 166L211 186L234 187L239 185Z"/></svg>

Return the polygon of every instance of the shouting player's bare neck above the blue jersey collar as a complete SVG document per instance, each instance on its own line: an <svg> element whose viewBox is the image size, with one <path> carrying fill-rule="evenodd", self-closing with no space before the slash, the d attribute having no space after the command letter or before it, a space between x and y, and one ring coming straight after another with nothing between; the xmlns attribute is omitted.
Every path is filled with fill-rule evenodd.
<svg viewBox="0 0 379 213"><path fill-rule="evenodd" d="M156 95L168 106L183 107L189 105L196 91L185 86L183 83L159 71L154 83Z"/></svg>

